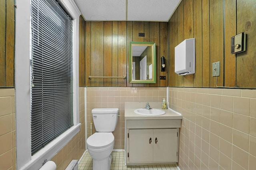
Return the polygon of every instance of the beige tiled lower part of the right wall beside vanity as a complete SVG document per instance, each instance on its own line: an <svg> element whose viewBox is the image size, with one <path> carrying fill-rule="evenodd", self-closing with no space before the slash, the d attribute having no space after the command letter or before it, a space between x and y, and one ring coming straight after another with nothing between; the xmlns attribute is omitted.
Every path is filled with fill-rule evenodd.
<svg viewBox="0 0 256 170"><path fill-rule="evenodd" d="M184 126L180 130L186 133L185 137L180 138L182 140L180 143L186 144L184 159L179 160L179 164L184 165L183 169L229 170L231 166L234 170L255 168L253 163L248 167L250 164L248 155L250 152L250 159L254 160L255 155L253 154L256 154L253 147L256 143L256 136L254 136L256 135L256 111L254 111L256 110L256 100L250 94L256 90L242 91L240 89L172 88L172 93L170 93L174 94L172 99L182 101L181 104L172 101L172 107L176 111L180 111L183 114L183 119L187 121L184 123L186 131L183 130ZM194 98L196 98L196 102ZM185 100L186 102L184 102ZM196 104L195 110L190 102ZM198 108L198 106L202 107ZM200 126L201 110L202 126ZM200 136L201 131L202 136ZM194 132L195 135L193 135ZM190 136L186 137L188 134L191 138ZM200 154L197 149L200 149L200 144L201 159L198 160ZM216 156L218 152L219 159ZM197 161L201 161L200 168Z"/></svg>

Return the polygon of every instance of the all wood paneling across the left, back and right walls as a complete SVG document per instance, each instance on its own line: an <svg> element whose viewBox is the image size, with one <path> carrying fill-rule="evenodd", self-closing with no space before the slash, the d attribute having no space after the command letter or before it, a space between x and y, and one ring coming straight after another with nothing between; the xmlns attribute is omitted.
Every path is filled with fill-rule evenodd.
<svg viewBox="0 0 256 170"><path fill-rule="evenodd" d="M216 87L212 63L220 61L218 86L256 88L256 3L254 0L182 0L168 23L89 22L80 17L80 86ZM14 0L0 1L0 86L14 86ZM138 37L144 32L145 37ZM246 51L230 54L230 37L246 33ZM174 73L174 47L196 38L196 73ZM130 41L156 42L156 84L130 84ZM160 71L160 57L167 61ZM167 74L168 73L168 74ZM168 75L168 76L167 76ZM166 80L159 80L166 76Z"/></svg>

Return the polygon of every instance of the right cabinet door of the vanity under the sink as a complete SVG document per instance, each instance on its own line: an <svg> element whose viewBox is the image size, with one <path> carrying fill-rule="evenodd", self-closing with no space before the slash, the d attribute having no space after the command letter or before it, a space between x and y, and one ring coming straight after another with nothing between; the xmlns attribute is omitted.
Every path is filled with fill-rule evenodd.
<svg viewBox="0 0 256 170"><path fill-rule="evenodd" d="M177 129L154 129L153 161L173 162L177 160L177 138Z"/></svg>

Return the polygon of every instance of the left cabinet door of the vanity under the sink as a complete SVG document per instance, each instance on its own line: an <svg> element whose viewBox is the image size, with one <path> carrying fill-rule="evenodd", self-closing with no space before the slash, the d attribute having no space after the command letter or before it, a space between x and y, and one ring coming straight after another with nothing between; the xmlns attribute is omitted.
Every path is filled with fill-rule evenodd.
<svg viewBox="0 0 256 170"><path fill-rule="evenodd" d="M151 143L149 143L150 138ZM152 162L153 143L153 129L130 129L129 162Z"/></svg>

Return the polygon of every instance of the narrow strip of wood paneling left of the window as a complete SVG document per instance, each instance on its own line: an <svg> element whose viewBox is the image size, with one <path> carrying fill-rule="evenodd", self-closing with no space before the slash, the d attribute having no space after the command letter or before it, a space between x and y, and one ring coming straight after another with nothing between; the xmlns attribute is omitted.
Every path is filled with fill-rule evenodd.
<svg viewBox="0 0 256 170"><path fill-rule="evenodd" d="M0 0L0 86L14 86L14 0Z"/></svg>

